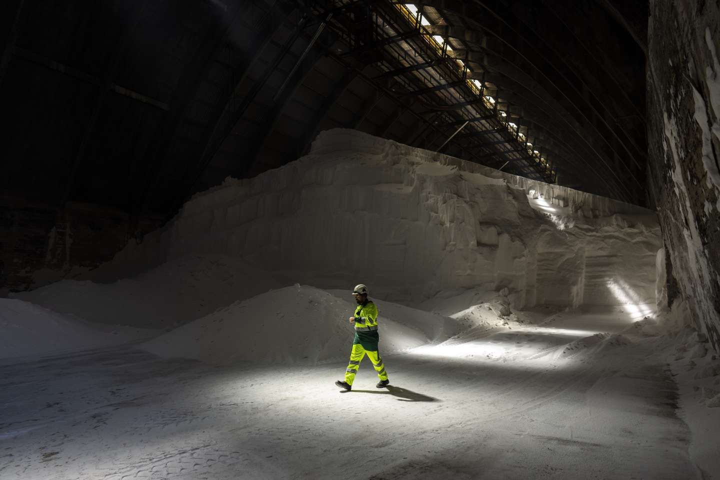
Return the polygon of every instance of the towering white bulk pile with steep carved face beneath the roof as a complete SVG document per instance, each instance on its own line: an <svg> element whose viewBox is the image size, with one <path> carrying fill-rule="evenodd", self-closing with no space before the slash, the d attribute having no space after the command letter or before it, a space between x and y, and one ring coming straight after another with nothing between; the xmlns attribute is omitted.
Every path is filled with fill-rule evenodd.
<svg viewBox="0 0 720 480"><path fill-rule="evenodd" d="M310 155L196 194L89 277L135 279L17 296L94 321L172 327L271 288L362 281L374 298L410 305L507 289L513 309L632 304L642 317L661 246L649 210L336 129ZM202 263L199 278L186 274L198 271L188 258Z"/></svg>

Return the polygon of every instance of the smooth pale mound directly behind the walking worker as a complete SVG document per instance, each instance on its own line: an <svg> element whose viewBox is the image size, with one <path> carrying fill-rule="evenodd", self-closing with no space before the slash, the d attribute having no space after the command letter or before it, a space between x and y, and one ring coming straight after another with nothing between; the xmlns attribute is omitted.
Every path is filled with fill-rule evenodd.
<svg viewBox="0 0 720 480"><path fill-rule="evenodd" d="M318 363L346 358L355 302L310 286L254 296L150 340L145 350L165 358L215 364ZM393 353L445 340L458 327L437 314L378 302L380 349Z"/></svg>

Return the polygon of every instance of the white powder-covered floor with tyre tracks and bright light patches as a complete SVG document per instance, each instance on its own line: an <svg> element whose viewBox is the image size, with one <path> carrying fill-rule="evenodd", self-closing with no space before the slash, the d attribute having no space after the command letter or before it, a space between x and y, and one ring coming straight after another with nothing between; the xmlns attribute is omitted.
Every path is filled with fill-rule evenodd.
<svg viewBox="0 0 720 480"><path fill-rule="evenodd" d="M2 479L690 479L655 340L561 314L365 360L233 366L114 348L0 368ZM382 347L382 343L381 343ZM349 348L349 345L348 345Z"/></svg>

